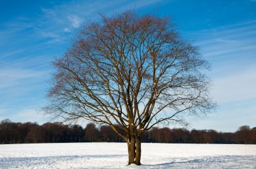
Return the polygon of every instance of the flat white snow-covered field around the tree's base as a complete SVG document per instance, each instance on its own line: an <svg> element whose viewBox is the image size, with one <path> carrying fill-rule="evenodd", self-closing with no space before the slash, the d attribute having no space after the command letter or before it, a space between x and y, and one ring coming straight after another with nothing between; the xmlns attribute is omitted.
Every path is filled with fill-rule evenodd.
<svg viewBox="0 0 256 169"><path fill-rule="evenodd" d="M141 163L125 143L0 145L0 168L256 168L256 145L142 144Z"/></svg>

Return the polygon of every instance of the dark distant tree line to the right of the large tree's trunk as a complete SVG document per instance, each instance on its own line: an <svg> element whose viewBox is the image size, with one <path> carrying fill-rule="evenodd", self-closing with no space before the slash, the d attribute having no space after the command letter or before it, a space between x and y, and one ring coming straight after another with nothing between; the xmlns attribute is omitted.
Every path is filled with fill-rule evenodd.
<svg viewBox="0 0 256 169"><path fill-rule="evenodd" d="M256 129L243 125L234 133L218 132L213 129L191 131L185 128L170 129L154 127L148 131L148 137L157 143L189 144L256 144Z"/></svg>

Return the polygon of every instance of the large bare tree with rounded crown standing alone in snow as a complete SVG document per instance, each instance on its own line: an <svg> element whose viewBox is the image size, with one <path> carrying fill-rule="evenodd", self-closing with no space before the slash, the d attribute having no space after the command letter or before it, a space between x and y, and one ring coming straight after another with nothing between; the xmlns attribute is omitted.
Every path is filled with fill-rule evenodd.
<svg viewBox="0 0 256 169"><path fill-rule="evenodd" d="M209 65L166 18L128 11L85 26L56 72L46 112L109 125L140 164L141 135L158 123L185 123L214 107Z"/></svg>

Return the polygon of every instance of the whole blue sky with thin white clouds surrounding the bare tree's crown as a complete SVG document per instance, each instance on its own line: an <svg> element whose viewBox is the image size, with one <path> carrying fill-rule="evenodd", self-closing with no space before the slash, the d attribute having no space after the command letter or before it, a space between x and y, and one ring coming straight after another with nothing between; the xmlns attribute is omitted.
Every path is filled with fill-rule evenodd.
<svg viewBox="0 0 256 169"><path fill-rule="evenodd" d="M48 121L38 109L46 104L51 62L98 13L129 9L170 17L212 64L207 74L219 107L206 118L190 117L188 129L256 126L255 0L0 1L0 120Z"/></svg>

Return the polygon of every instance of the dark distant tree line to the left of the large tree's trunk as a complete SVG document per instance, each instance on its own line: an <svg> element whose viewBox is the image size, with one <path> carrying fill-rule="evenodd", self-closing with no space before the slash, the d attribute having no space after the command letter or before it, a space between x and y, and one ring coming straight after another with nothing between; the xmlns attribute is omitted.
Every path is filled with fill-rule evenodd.
<svg viewBox="0 0 256 169"><path fill-rule="evenodd" d="M110 127L97 128L89 123L84 129L80 125L63 123L14 123L4 119L0 123L0 144L67 143L67 142L123 142Z"/></svg>

